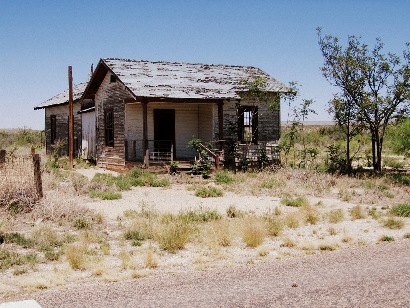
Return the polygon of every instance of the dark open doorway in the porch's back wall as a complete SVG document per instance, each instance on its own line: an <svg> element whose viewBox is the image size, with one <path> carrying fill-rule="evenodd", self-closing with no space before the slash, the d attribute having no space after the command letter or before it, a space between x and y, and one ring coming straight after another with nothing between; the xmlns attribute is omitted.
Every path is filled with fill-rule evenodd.
<svg viewBox="0 0 410 308"><path fill-rule="evenodd" d="M175 157L175 109L154 109L154 151Z"/></svg>

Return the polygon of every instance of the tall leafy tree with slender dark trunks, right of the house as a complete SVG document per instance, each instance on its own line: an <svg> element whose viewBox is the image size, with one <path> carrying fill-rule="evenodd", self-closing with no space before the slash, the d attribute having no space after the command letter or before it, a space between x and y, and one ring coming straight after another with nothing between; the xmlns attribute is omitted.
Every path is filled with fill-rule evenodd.
<svg viewBox="0 0 410 308"><path fill-rule="evenodd" d="M384 54L380 39L369 50L358 37L349 36L343 49L337 37L323 37L320 28L318 36L324 57L322 73L341 90L330 102L330 111L346 134L348 170L351 168L349 141L361 128L366 128L372 140L373 169L381 172L386 127L409 107L409 44L401 59L393 53Z"/></svg>

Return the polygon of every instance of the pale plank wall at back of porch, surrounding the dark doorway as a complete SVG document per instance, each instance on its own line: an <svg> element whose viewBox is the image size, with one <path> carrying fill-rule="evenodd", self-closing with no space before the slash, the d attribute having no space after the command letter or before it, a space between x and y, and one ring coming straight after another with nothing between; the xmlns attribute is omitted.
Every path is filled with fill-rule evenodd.
<svg viewBox="0 0 410 308"><path fill-rule="evenodd" d="M175 110L175 147L176 159L192 159L196 152L188 148L193 136L211 141L213 136L213 104L192 103L155 103L147 105L148 139L154 140L154 109ZM142 143L142 105L131 103L125 106L125 136L128 140L128 157L136 160L143 158ZM149 143L152 150L153 143ZM135 154L132 154L135 151Z"/></svg>

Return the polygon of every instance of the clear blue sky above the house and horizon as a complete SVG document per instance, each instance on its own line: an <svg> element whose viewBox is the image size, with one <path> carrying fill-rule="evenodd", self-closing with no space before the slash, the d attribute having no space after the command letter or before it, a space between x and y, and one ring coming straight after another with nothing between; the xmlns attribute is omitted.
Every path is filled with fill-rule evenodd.
<svg viewBox="0 0 410 308"><path fill-rule="evenodd" d="M410 42L410 1L20 1L0 0L0 128L43 129L33 107L88 79L100 58L257 66L314 99L329 120L337 89L322 77L316 28L376 37L401 54ZM282 105L282 120L287 108Z"/></svg>

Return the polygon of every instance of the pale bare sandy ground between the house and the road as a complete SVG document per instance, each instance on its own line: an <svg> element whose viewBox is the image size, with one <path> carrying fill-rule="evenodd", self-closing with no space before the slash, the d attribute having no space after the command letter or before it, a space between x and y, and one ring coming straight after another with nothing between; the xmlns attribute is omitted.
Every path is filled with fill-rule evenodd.
<svg viewBox="0 0 410 308"><path fill-rule="evenodd" d="M84 169L79 172L88 178L92 178L96 172L107 171ZM207 185L213 186L215 184L209 183ZM286 228L280 237L267 237L263 244L257 248L246 247L240 239L236 239L231 246L219 247L218 249L210 248L203 244L190 243L185 249L172 254L161 251L151 241L144 242L140 247L132 247L130 243L124 242L122 238L123 229L121 228L127 223L124 218L124 211L126 210L140 211L144 208L163 213L178 213L202 207L225 214L226 209L233 205L239 210L258 215L272 212L275 208L280 209L282 216L298 211L297 208L281 204L281 200L278 197L252 195L244 191L234 193L224 190L223 197L199 198L194 195L193 190L189 189L190 186L185 183L174 183L168 188L136 187L130 191L122 192L122 199L112 201L91 199L89 197L73 198L73 202L76 204L86 206L103 215L105 219L104 229L100 231L102 234L107 234L111 238L116 239L110 242L110 254L104 256L103 260L98 259L98 257L92 259L92 264L84 271L71 269L67 261L64 260L64 257L60 262L39 264L35 270L19 276L13 275L12 271L6 271L2 273L2 279L0 279L0 302L13 294L38 292L44 288L58 288L60 290L71 287L75 288L76 285L83 283L110 283L146 276L148 278L151 276L162 277L162 275L170 274L171 276L167 276L167 279L172 281L172 275L188 275L181 277L199 275L198 277L200 277L198 271L207 271L209 269L221 270L221 272L218 272L218 275L222 277L224 271L235 271L235 268L238 266L269 264L267 265L268 267L277 267L280 266L278 264L282 264L278 263L282 262L282 260L293 258L298 260L302 258L300 260L303 260L305 256L321 255L323 253L323 249L320 248L321 246L336 249L339 251L339 255L343 254L343 251L347 251L346 249L350 247L354 247L354 249L375 247L374 249L377 251L380 237L384 235L391 236L397 241L405 243L400 244L402 245L400 247L409 252L408 243L410 240L403 239L403 237L405 234L410 233L410 218L403 218L405 226L397 230L384 227L380 220L368 215L364 219L352 220L349 216L349 209L354 207L356 203L343 202L340 199L329 196L309 197L308 199L310 204L315 205L315 208L323 215L322 217L325 217L324 215L331 210L341 209L345 214L343 221L332 224L325 218L322 218L317 224L306 224L296 229ZM62 198L65 197L67 195L62 195ZM386 210L383 210L382 204L374 206L362 203L361 206L365 211L375 207L381 214L385 215L387 213ZM333 231L330 232L330 229L333 229ZM289 242L292 245L286 244ZM124 268L122 265L122 261L119 258L122 250L126 250L131 256L132 266ZM158 267L147 268L144 265L144 258L146 258L148 250L154 251ZM354 263L354 259L349 262ZM157 278L152 279L156 281L155 279ZM200 280L200 278L198 279ZM3 300L1 299L2 297ZM45 300L44 303L47 301ZM218 305L215 303L215 306Z"/></svg>

